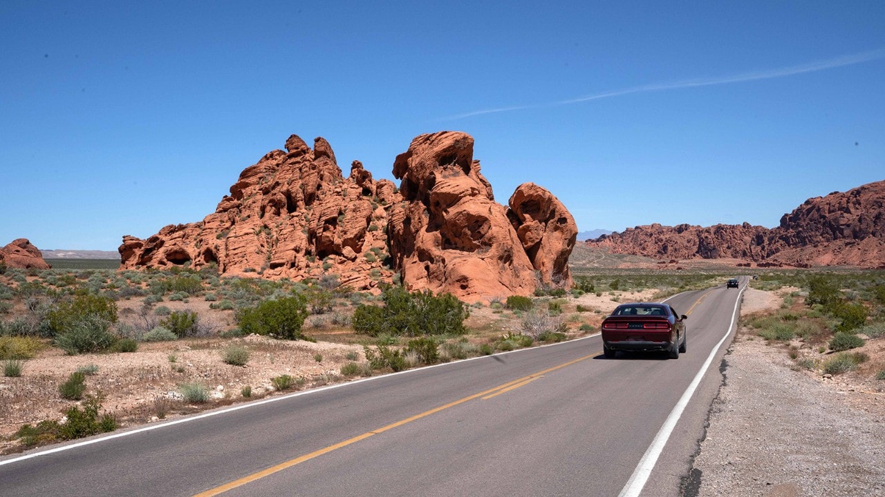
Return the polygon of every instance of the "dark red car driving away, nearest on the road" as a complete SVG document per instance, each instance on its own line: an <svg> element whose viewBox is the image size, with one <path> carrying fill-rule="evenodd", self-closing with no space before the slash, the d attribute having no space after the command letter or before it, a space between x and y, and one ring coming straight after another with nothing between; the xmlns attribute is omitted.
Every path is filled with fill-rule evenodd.
<svg viewBox="0 0 885 497"><path fill-rule="evenodd" d="M685 315L666 303L620 304L603 321L603 352L648 352L666 350L671 359L685 352Z"/></svg>

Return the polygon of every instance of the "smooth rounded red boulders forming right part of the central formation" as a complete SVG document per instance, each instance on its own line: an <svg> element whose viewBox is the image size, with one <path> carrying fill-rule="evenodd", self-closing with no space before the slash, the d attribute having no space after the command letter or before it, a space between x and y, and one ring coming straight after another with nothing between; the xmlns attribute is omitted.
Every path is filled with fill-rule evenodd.
<svg viewBox="0 0 885 497"><path fill-rule="evenodd" d="M470 135L418 136L394 175L404 202L390 212L390 254L407 287L477 301L571 283L563 264L577 234L571 214L531 184L517 189L511 212L495 203Z"/></svg>

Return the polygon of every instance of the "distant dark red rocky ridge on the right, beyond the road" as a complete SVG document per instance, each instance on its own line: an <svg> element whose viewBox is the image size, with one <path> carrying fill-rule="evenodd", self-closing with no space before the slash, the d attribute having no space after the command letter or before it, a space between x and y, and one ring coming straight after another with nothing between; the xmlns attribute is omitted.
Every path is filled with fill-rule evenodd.
<svg viewBox="0 0 885 497"><path fill-rule="evenodd" d="M590 246L678 259L738 258L761 266L885 266L885 181L806 200L773 229L763 226L636 226Z"/></svg>

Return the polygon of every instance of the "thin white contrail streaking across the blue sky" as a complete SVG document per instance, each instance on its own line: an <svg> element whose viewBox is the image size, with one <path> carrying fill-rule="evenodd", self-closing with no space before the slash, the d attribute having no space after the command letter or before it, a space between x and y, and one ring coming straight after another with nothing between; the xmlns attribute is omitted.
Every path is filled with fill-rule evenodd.
<svg viewBox="0 0 885 497"><path fill-rule="evenodd" d="M723 76L720 78L708 78L702 80L683 80L683 81L675 81L671 83L650 83L648 85L643 85L639 87L633 88L622 88L616 90L606 91L604 93L597 93L589 96L581 96L579 98L572 98L569 100L561 100L559 102L550 102L550 103L535 103L528 105L512 105L510 107L501 107L498 109L487 109L484 111L473 111L466 112L464 114L458 114L457 116L450 116L446 119L463 119L469 118L473 116L481 116L483 114L494 114L496 112L507 112L507 111L523 111L526 109L536 109L543 107L555 107L557 105L568 105L570 103L581 103L581 102L589 102L590 100L599 100L602 98L609 98L612 96L622 96L629 95L631 93L643 93L648 91L661 91L667 89L679 89L679 88L695 88L695 87L709 87L713 85L725 85L728 83L743 83L745 81L757 81L757 80L771 80L773 78L783 78L786 76L794 76L796 74L803 73L815 73L818 71L825 71L827 69L833 69L835 67L842 67L844 65L855 65L860 64L862 62L867 62L870 60L875 60L877 58L885 57L885 49L878 50L870 50L866 52L861 52L854 55L830 58L827 60L819 60L816 62L811 62L804 65L791 65L789 67L784 67L781 69L772 69L769 71L758 71L755 73L742 73L735 74L731 76Z"/></svg>

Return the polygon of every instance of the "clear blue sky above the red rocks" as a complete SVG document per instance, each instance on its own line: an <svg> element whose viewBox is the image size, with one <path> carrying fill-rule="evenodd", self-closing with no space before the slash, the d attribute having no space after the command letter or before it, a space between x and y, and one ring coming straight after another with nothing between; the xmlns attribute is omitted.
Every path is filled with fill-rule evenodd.
<svg viewBox="0 0 885 497"><path fill-rule="evenodd" d="M581 231L777 226L885 180L885 2L0 3L0 245L199 221L289 134L473 135Z"/></svg>

